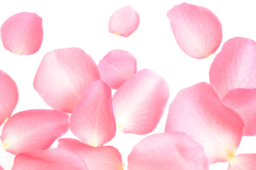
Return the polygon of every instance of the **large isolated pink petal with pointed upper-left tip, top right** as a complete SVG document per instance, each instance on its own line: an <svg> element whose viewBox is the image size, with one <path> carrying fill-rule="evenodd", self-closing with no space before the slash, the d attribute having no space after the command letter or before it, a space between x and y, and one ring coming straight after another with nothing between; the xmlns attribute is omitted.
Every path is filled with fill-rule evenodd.
<svg viewBox="0 0 256 170"><path fill-rule="evenodd" d="M207 58L223 39L221 22L211 10L188 3L167 12L181 50L192 58Z"/></svg>

